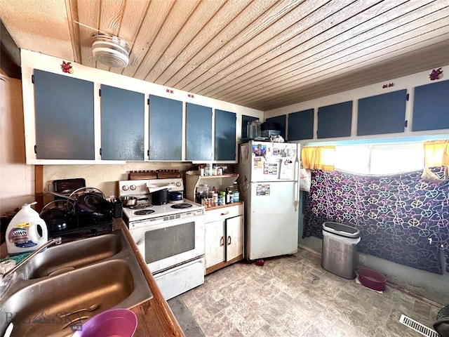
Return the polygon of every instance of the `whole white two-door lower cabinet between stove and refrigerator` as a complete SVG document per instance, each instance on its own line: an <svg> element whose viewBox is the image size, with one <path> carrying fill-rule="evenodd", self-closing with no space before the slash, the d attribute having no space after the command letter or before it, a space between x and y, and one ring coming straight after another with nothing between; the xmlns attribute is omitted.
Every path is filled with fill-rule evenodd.
<svg viewBox="0 0 449 337"><path fill-rule="evenodd" d="M243 259L243 202L206 210L205 274Z"/></svg>

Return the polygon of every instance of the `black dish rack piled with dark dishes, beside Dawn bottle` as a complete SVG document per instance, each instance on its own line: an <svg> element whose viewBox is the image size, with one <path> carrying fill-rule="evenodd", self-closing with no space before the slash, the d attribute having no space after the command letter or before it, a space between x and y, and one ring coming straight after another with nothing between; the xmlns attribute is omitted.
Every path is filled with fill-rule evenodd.
<svg viewBox="0 0 449 337"><path fill-rule="evenodd" d="M107 200L95 187L86 187L83 178L54 180L53 201L40 216L46 222L48 237L86 237L112 231L114 218L121 218L119 199Z"/></svg>

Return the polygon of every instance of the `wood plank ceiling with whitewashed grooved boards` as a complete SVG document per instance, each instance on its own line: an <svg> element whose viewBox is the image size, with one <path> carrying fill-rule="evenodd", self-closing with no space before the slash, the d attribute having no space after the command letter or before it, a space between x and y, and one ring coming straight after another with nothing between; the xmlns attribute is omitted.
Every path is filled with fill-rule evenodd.
<svg viewBox="0 0 449 337"><path fill-rule="evenodd" d="M0 0L0 18L19 48L263 111L449 64L449 0ZM86 26L128 41L128 67L96 62Z"/></svg>

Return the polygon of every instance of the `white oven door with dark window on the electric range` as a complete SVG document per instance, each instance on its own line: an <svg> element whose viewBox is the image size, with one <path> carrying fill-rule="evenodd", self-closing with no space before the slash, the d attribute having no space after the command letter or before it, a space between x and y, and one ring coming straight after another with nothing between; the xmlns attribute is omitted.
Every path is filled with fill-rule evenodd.
<svg viewBox="0 0 449 337"><path fill-rule="evenodd" d="M204 256L204 214L134 221L129 230L153 275Z"/></svg>

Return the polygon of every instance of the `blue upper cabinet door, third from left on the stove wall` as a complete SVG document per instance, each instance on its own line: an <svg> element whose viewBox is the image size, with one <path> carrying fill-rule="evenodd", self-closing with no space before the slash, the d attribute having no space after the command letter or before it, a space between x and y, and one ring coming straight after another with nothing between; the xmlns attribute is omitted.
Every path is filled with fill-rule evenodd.
<svg viewBox="0 0 449 337"><path fill-rule="evenodd" d="M182 160L182 102L149 95L149 159Z"/></svg>

